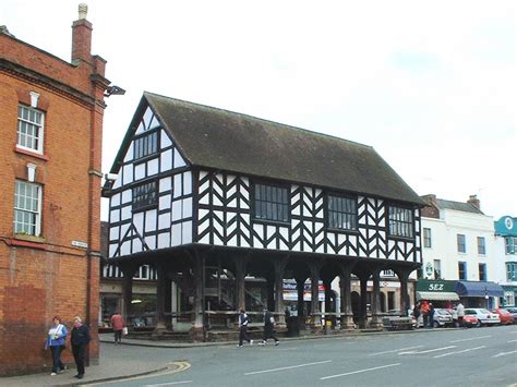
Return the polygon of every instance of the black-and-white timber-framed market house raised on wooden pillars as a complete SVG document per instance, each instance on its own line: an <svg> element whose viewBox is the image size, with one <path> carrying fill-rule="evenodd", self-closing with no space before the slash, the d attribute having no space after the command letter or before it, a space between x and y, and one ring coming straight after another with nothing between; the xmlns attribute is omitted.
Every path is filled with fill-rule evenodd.
<svg viewBox="0 0 517 387"><path fill-rule="evenodd" d="M281 325L286 279L314 329L320 283L325 316L340 328L353 317L382 325L383 270L396 274L400 310L409 307L423 203L370 146L144 93L111 173L108 261L123 274L127 315L133 275L156 269L157 331L187 326L203 340L241 307L262 305ZM352 278L361 290L353 310Z"/></svg>

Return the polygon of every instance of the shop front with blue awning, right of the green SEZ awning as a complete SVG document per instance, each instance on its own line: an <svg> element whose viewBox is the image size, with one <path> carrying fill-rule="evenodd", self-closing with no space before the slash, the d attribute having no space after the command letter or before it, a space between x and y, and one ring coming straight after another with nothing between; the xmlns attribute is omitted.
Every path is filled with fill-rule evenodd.
<svg viewBox="0 0 517 387"><path fill-rule="evenodd" d="M504 290L501 285L489 281L457 281L454 290L466 307L498 307Z"/></svg>

